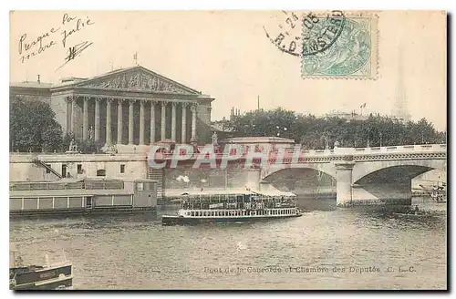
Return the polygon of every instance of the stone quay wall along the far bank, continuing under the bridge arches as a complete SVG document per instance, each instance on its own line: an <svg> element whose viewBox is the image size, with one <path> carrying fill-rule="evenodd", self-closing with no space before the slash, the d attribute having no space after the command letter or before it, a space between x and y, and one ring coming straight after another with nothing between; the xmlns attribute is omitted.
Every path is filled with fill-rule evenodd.
<svg viewBox="0 0 456 299"><path fill-rule="evenodd" d="M62 173L65 166L72 178L85 179L102 177L106 179L146 179L149 166L144 154L10 154L9 175L10 181L41 181L57 180L57 176L48 172L34 160L40 160L49 165L58 173ZM79 170L79 171L78 171ZM79 172L79 173L78 173ZM409 196L409 189L419 181L440 180L446 173L440 170L431 170L411 181L407 191L400 190L399 198ZM192 166L180 169L163 170L163 187L165 197L173 196L179 191L204 191L229 188L245 188L248 185L247 170L243 167L220 169L192 169ZM292 191L300 198L334 199L337 182L330 176L319 174L315 170L283 170L267 178L280 191ZM160 184L160 183L159 183ZM372 190L363 186L376 198L398 197L397 186ZM370 190L369 190L370 189ZM355 198L361 197L360 191L355 191ZM381 194L380 194L381 193ZM389 194L385 194L389 193Z"/></svg>

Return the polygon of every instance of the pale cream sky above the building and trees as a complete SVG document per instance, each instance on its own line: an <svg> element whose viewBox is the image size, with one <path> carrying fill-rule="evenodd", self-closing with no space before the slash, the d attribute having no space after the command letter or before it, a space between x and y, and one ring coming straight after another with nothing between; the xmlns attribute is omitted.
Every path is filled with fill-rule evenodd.
<svg viewBox="0 0 456 299"><path fill-rule="evenodd" d="M265 109L359 113L366 103L363 114L390 115L399 95L401 56L402 90L412 119L426 118L446 129L446 15L369 13L378 15L376 80L301 77L301 58L281 52L265 35L264 30L276 36L279 26L287 26L281 11L13 12L10 81L36 81L39 74L42 82L57 83L62 77L93 77L138 63L215 98L212 120L229 117L232 107L256 108L257 97ZM78 19L79 30L68 35ZM27 59L38 50L39 36L48 47ZM86 41L92 44L63 65L68 49Z"/></svg>

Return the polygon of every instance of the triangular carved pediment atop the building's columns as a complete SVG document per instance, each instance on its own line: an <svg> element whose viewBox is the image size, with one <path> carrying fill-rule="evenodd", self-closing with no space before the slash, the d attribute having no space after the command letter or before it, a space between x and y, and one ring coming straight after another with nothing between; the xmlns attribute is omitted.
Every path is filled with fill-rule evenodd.
<svg viewBox="0 0 456 299"><path fill-rule="evenodd" d="M201 94L197 90L188 88L144 67L120 69L103 76L93 77L78 82L75 87L186 95Z"/></svg>

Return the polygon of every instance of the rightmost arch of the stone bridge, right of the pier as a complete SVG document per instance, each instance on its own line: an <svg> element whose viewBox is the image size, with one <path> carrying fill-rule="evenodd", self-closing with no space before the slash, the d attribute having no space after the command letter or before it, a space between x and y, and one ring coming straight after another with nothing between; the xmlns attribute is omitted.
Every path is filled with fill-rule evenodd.
<svg viewBox="0 0 456 299"><path fill-rule="evenodd" d="M358 162L353 168L353 183L367 180L369 176L378 175L382 171L399 170L404 180L411 180L429 170L445 170L446 160L386 160Z"/></svg>

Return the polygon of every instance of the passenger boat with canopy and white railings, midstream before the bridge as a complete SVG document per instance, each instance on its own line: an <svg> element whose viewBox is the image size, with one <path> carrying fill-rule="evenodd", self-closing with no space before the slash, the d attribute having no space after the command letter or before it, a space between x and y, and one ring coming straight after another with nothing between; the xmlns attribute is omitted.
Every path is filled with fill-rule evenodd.
<svg viewBox="0 0 456 299"><path fill-rule="evenodd" d="M211 222L251 222L300 217L293 193L261 193L251 190L221 194L182 194L176 215L163 215L162 225Z"/></svg>

